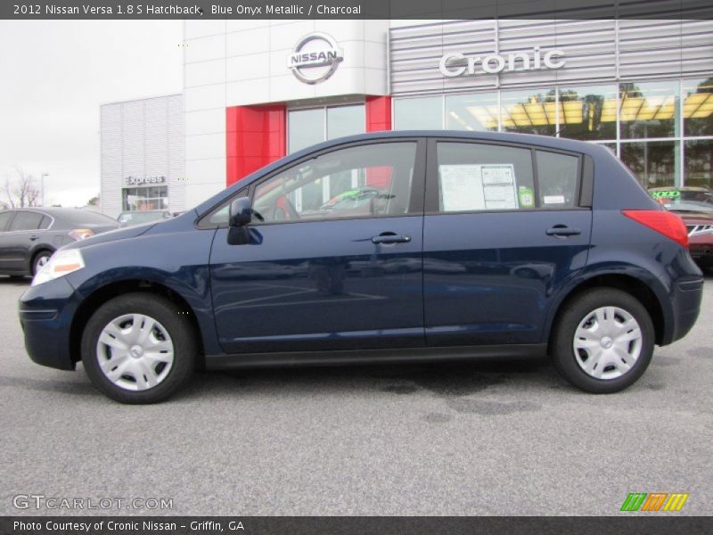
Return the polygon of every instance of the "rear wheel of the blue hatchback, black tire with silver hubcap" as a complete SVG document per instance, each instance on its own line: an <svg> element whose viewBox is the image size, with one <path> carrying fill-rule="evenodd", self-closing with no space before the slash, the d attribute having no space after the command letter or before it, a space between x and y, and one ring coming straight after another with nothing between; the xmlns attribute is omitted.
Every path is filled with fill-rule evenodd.
<svg viewBox="0 0 713 535"><path fill-rule="evenodd" d="M653 344L652 318L639 300L613 288L594 288L561 309L550 351L567 381L584 391L607 394L624 390L642 376Z"/></svg>

